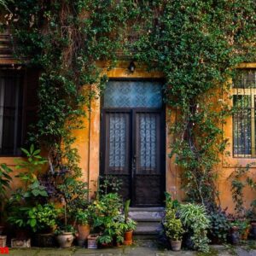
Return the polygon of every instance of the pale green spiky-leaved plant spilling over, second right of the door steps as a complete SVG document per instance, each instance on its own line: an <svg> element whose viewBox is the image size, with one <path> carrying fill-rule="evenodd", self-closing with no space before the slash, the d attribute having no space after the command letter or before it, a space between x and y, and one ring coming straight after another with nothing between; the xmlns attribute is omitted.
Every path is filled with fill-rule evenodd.
<svg viewBox="0 0 256 256"><path fill-rule="evenodd" d="M190 234L195 249L207 253L209 251L209 239L207 230L210 228L210 220L204 206L192 203L183 204L179 210L181 222Z"/></svg>

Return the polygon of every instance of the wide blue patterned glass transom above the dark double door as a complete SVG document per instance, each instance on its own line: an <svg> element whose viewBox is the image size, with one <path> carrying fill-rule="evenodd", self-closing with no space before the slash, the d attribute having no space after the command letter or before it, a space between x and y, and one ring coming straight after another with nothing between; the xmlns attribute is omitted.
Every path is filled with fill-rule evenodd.
<svg viewBox="0 0 256 256"><path fill-rule="evenodd" d="M105 108L161 108L161 84L157 81L109 81Z"/></svg>

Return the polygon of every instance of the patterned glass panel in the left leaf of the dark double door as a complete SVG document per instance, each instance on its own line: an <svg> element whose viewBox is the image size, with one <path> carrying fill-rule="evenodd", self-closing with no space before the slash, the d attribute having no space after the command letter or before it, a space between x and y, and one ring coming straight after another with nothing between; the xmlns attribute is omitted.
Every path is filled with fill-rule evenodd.
<svg viewBox="0 0 256 256"><path fill-rule="evenodd" d="M122 113L109 114L109 166L125 166L126 143L125 116Z"/></svg>

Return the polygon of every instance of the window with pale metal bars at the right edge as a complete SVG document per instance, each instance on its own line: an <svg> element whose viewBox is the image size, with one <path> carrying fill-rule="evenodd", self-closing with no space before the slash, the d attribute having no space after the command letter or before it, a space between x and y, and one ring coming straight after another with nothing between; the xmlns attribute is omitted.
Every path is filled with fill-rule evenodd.
<svg viewBox="0 0 256 256"><path fill-rule="evenodd" d="M256 69L241 70L233 83L233 156L255 157Z"/></svg>

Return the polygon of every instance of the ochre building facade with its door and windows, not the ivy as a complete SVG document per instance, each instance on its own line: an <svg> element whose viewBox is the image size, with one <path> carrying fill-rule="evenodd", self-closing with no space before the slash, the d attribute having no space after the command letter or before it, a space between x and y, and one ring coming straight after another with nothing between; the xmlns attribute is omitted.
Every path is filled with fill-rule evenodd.
<svg viewBox="0 0 256 256"><path fill-rule="evenodd" d="M9 53L8 35L2 35L0 55L0 162L15 166L26 130L37 111L38 71L23 70ZM83 179L91 195L101 175L122 180L121 194L131 198L133 207L158 207L164 204L164 192L182 200L182 170L168 155L171 119L163 101L161 73L148 73L146 67L129 70L130 61L103 73L109 81L104 96L90 102L84 128L74 131ZM103 65L100 63L99 65ZM256 63L241 64L242 79L230 89L230 105L238 111L224 125L230 155L221 156L218 166L220 201L233 211L230 174L237 166L255 161ZM221 99L224 100L224 99ZM255 167L252 166L253 176ZM15 186L15 183L14 183ZM246 203L255 198L247 189ZM254 194L253 194L254 193Z"/></svg>

